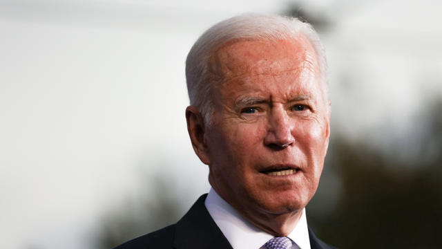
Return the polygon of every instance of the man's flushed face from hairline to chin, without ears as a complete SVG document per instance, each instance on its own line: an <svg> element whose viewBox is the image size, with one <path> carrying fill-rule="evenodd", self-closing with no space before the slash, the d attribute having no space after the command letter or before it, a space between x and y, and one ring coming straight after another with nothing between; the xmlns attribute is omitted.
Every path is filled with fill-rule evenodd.
<svg viewBox="0 0 442 249"><path fill-rule="evenodd" d="M209 181L254 223L307 205L329 140L329 104L313 46L242 41L211 58L220 77L204 141Z"/></svg>

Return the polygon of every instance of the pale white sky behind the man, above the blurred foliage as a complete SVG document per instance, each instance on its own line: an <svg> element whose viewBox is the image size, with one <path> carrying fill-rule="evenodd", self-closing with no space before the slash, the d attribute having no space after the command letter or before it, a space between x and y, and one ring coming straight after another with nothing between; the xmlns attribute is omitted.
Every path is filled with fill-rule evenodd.
<svg viewBox="0 0 442 249"><path fill-rule="evenodd" d="M0 1L1 248L90 248L100 214L155 172L189 205L206 192L186 134L186 53L216 21L285 3ZM311 6L337 13L323 39L334 125L349 136L407 129L441 93L440 6Z"/></svg>

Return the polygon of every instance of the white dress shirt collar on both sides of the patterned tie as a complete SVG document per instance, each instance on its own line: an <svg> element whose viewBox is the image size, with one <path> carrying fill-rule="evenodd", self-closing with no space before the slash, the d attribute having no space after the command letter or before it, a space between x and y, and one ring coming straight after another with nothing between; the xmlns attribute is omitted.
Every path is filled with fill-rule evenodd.
<svg viewBox="0 0 442 249"><path fill-rule="evenodd" d="M260 230L256 225L244 219L213 188L209 191L204 205L206 205L213 221L218 225L218 228L220 228L233 249L259 249L269 239L273 238L273 235ZM295 242L292 249L310 249L305 209L302 210L298 224L296 224L294 230L287 237Z"/></svg>

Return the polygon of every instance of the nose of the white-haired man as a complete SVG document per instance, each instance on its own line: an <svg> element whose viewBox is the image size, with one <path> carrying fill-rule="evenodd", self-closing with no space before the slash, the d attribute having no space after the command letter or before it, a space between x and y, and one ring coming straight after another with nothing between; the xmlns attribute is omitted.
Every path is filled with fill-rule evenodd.
<svg viewBox="0 0 442 249"><path fill-rule="evenodd" d="M293 120L282 107L274 107L269 114L269 128L264 138L264 143L271 149L284 149L293 145L295 138Z"/></svg>

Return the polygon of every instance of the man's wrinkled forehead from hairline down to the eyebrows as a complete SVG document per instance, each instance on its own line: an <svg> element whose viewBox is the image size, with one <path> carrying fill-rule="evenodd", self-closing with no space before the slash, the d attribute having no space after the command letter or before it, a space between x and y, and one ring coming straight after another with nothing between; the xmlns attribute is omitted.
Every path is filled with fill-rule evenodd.
<svg viewBox="0 0 442 249"><path fill-rule="evenodd" d="M266 98L287 101L298 95L324 97L316 51L300 35L291 40L246 40L227 44L211 57L215 99Z"/></svg>

